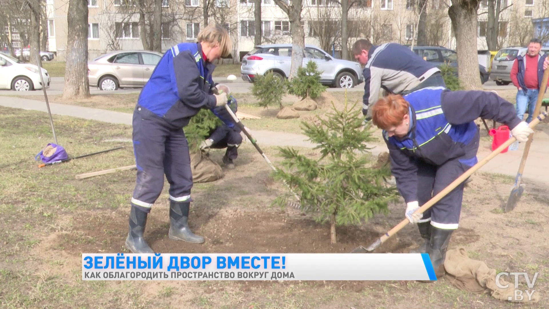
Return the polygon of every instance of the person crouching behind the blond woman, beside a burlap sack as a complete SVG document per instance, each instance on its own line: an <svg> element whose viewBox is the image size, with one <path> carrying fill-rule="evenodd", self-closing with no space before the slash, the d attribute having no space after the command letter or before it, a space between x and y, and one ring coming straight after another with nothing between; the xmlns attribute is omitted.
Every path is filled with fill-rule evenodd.
<svg viewBox="0 0 549 309"><path fill-rule="evenodd" d="M229 87L226 85L218 84L216 85L216 88L221 92L225 93L231 93L229 91ZM236 98L229 95L227 102L227 106L231 108L231 111L233 113L236 113L238 110L238 102ZM215 149L223 149L227 148L227 151L225 152L225 156L223 156L223 164L225 164L225 167L228 169L234 169L234 160L238 157L238 146L242 144L242 141L246 141L246 136L240 130L238 125L234 122L234 119L232 119L231 115L226 111L225 107L221 108L215 108L214 112L216 113L217 117L219 117L221 120L223 120L223 124L220 126L217 126L213 133L211 133L210 137L208 139L204 140L200 144L200 149L206 149L206 148L215 148ZM229 119L228 121L226 119Z"/></svg>

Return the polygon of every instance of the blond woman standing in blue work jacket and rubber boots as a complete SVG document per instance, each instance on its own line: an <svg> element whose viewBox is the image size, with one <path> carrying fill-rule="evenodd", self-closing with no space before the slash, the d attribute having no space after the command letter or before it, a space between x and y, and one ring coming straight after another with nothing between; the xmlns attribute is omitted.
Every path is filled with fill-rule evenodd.
<svg viewBox="0 0 549 309"><path fill-rule="evenodd" d="M201 244L203 236L189 229L193 177L183 127L201 108L227 104L227 93L214 95L211 74L215 59L228 57L232 42L220 25L205 27L197 43L180 43L160 59L133 111L133 150L137 181L131 199L126 248L154 253L143 238L147 215L164 186L170 184L169 238Z"/></svg>

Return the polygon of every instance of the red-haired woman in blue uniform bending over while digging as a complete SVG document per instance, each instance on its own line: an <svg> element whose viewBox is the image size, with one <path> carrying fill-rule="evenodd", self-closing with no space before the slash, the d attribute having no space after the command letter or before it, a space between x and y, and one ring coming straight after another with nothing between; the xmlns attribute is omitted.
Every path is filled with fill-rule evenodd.
<svg viewBox="0 0 549 309"><path fill-rule="evenodd" d="M463 183L423 214L413 212L478 163L474 120L479 117L508 125L519 142L533 133L512 103L486 91L427 87L380 98L372 108L372 122L383 130L391 172L407 205L405 216L418 224L425 240L412 253L429 253L437 278L446 274L446 249L460 221Z"/></svg>

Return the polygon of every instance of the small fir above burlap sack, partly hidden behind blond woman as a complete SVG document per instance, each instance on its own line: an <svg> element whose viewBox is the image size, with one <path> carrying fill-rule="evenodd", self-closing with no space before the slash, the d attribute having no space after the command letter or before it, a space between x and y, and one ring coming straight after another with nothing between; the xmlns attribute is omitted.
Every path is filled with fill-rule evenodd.
<svg viewBox="0 0 549 309"><path fill-rule="evenodd" d="M183 128L189 144L189 151L199 151L201 142L207 139L217 126L222 124L221 119L212 111L200 109L198 114L194 115L189 124Z"/></svg>

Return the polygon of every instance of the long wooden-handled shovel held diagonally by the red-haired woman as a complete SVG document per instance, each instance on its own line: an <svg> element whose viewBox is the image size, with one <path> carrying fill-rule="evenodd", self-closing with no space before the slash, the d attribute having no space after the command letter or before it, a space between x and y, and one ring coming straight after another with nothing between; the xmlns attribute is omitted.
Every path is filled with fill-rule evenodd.
<svg viewBox="0 0 549 309"><path fill-rule="evenodd" d="M546 70L546 74L549 72L549 70ZM547 79L544 78L545 82L547 82ZM534 129L534 127L541 122L541 120L544 120L545 117L547 117L547 112L543 112L540 115L537 115L534 120L528 125L530 129ZM473 165L473 167L469 168L463 175L458 177L456 180L454 180L450 185L444 188L444 190L440 191L439 194L433 196L427 203L425 203L423 206L419 207L414 213L423 213L430 207L432 207L436 202L440 201L440 199L446 194L449 194L450 191L455 189L458 185L463 183L464 180L466 180L471 174L476 172L480 167L482 167L484 164L488 163L492 158L497 156L500 152L505 150L505 148L509 147L509 145L513 144L514 141L517 139L515 137L511 137L511 139L508 139L505 143L503 143L500 147L497 147L496 150L492 151L488 155L488 157L482 159L479 163ZM407 224L409 224L410 221L408 219L402 220L399 224L397 224L394 228L390 229L385 235L378 238L375 242L373 242L371 245L369 245L367 248L363 246L356 247L355 250L351 251L351 253L371 253L374 250L376 250L380 245L382 245L386 240L388 240L391 236L398 233L402 228L406 227Z"/></svg>

